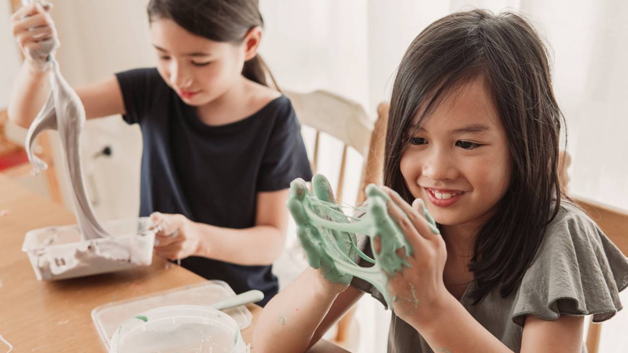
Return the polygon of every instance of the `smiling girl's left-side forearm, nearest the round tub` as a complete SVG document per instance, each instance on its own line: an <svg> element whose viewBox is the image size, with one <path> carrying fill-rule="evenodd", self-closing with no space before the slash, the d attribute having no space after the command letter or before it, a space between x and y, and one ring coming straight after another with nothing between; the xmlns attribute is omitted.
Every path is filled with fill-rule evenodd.
<svg viewBox="0 0 628 353"><path fill-rule="evenodd" d="M305 352L338 295L317 288L316 270L307 268L269 301L253 337L257 353Z"/></svg>

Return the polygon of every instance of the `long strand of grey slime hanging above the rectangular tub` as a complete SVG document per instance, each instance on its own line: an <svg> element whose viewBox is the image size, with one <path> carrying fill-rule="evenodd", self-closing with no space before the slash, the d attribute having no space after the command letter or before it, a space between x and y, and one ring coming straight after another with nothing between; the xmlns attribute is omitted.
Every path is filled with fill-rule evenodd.
<svg viewBox="0 0 628 353"><path fill-rule="evenodd" d="M23 0L23 3L30 3ZM46 58L50 64L51 92L48 101L41 109L26 134L26 153L33 165L33 173L48 168L46 163L33 153L35 138L48 129L57 130L63 148L65 166L72 183L72 202L77 217L81 236L85 239L96 239L109 236L94 216L94 210L85 192L83 170L80 163L80 131L85 125L85 108L70 85L63 79L57 60L52 55Z"/></svg>

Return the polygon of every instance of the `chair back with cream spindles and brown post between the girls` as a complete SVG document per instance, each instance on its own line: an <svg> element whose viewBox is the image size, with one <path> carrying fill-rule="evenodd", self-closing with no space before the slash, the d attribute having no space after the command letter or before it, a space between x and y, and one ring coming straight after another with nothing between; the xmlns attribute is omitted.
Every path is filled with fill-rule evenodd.
<svg viewBox="0 0 628 353"><path fill-rule="evenodd" d="M305 94L284 91L284 94L290 98L301 124L316 131L313 156L310 156L314 173L318 168L320 134L325 133L342 141L342 159L335 188L337 198L342 197L347 148L354 148L364 157L357 203L364 201L364 187L369 183L381 183L387 104L379 105L377 120L373 122L359 103L325 90Z"/></svg>

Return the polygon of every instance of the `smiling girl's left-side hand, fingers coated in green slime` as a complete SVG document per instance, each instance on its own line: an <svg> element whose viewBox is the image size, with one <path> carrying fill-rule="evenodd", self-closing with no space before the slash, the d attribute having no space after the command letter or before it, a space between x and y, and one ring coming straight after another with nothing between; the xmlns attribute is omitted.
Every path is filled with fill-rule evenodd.
<svg viewBox="0 0 628 353"><path fill-rule="evenodd" d="M312 178L312 188L314 195L323 202L332 202L335 204L332 188L327 179L322 175L315 175ZM319 269L320 281L318 283L327 293L341 293L349 283L353 276L338 270L334 266L334 261L323 250L323 244L320 232L317 227L308 222L308 217L303 209L308 188L302 179L294 180L290 183L290 197L288 198L288 209L295 219L299 242L306 253L308 263L312 268ZM342 212L338 207L338 211ZM348 222L348 220L347 220ZM338 247L350 258L355 256L352 247L352 241L355 242L354 234L332 231ZM353 239L353 240L352 240Z"/></svg>

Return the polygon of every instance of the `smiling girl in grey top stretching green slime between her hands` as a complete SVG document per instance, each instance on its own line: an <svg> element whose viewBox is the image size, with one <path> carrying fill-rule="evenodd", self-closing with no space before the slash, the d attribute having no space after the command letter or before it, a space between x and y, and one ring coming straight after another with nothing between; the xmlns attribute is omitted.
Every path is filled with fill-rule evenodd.
<svg viewBox="0 0 628 353"><path fill-rule="evenodd" d="M264 308L256 352L305 352L365 292L393 310L388 352L582 352L584 316L621 308L628 259L561 194L562 121L526 19L430 24L399 65L366 213L335 209L322 178L316 197L291 185L311 267Z"/></svg>

